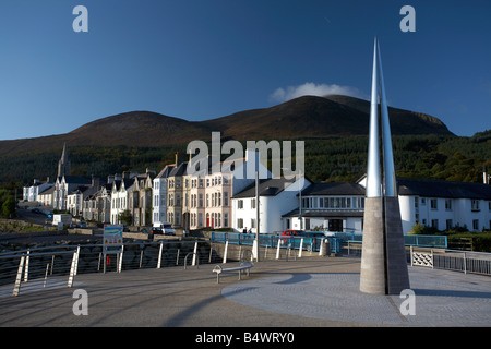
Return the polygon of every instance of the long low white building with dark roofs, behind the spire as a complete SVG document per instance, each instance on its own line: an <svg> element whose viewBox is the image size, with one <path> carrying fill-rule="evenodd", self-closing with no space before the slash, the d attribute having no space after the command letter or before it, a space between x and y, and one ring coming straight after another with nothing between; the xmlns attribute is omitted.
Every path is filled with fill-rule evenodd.
<svg viewBox="0 0 491 349"><path fill-rule="evenodd" d="M404 233L417 222L442 231L454 227L470 231L491 229L491 185L408 178L398 178L397 183ZM232 227L238 231L253 228L255 232L254 186L233 196ZM261 181L261 232L363 231L364 178L358 183L307 180L303 188L300 198L298 193L283 193L275 180Z"/></svg>

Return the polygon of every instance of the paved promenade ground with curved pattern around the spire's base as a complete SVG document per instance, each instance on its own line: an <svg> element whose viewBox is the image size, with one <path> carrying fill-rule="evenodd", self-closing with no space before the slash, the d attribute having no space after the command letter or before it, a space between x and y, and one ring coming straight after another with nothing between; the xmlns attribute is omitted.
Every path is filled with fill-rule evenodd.
<svg viewBox="0 0 491 349"><path fill-rule="evenodd" d="M230 263L232 266L233 263ZM491 278L409 267L415 315L405 299L358 291L360 260L302 258L255 263L250 277L172 267L77 275L0 288L0 326L491 326ZM76 289L88 315L74 315Z"/></svg>

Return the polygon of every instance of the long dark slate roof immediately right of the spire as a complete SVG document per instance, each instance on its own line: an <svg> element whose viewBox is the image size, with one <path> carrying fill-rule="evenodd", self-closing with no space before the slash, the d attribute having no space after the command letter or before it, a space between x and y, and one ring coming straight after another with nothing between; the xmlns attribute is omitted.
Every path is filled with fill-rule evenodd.
<svg viewBox="0 0 491 349"><path fill-rule="evenodd" d="M398 194L448 198L491 200L491 185L419 178L397 178Z"/></svg>

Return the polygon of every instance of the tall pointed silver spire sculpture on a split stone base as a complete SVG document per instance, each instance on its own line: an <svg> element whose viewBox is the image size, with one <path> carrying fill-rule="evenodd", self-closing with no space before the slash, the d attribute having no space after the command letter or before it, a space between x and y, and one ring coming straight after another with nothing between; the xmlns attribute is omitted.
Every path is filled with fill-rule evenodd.
<svg viewBox="0 0 491 349"><path fill-rule="evenodd" d="M380 153L380 129L382 130L383 161L381 161ZM381 163L383 170L381 170ZM366 196L360 291L374 294L399 294L404 289L409 289L409 275L397 198L382 62L376 38L373 48Z"/></svg>

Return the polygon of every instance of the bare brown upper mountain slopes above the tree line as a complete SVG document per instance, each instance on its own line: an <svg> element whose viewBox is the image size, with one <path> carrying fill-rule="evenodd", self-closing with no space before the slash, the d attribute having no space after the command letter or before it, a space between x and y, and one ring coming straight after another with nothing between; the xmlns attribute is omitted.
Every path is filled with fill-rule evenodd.
<svg viewBox="0 0 491 349"><path fill-rule="evenodd" d="M221 139L268 140L368 135L370 103L347 96L303 96L280 105L251 109L230 116L192 122L151 111L131 111L86 123L65 134L0 141L0 156L43 153L70 147L164 146L211 141L211 132ZM435 117L390 108L393 134L447 134Z"/></svg>

